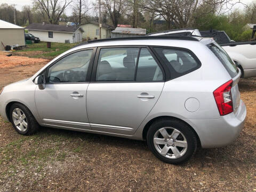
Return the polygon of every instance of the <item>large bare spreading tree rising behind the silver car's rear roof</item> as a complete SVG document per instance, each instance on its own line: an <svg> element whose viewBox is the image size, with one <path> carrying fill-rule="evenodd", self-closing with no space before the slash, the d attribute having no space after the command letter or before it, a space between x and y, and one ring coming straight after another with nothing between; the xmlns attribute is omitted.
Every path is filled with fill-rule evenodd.
<svg viewBox="0 0 256 192"><path fill-rule="evenodd" d="M207 6L207 13L229 11L239 0L143 0L139 6L154 12L166 21L167 29L193 25L194 16L199 7ZM173 25L174 24L174 25Z"/></svg>

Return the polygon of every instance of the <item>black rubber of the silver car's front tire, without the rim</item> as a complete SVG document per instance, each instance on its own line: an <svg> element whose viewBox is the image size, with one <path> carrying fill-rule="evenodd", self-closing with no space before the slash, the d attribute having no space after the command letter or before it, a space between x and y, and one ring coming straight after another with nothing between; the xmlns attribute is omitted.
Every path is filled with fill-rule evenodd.
<svg viewBox="0 0 256 192"><path fill-rule="evenodd" d="M14 124L12 113L13 113L13 110L17 109L17 108L21 109L22 112L26 115L27 129L25 131L20 131ZM39 125L38 125L35 117L33 116L33 114L30 112L30 110L26 106L22 105L21 103L14 103L10 108L9 115L10 115L10 120L11 120L12 126L18 133L20 133L22 135L31 135L39 129Z"/></svg>

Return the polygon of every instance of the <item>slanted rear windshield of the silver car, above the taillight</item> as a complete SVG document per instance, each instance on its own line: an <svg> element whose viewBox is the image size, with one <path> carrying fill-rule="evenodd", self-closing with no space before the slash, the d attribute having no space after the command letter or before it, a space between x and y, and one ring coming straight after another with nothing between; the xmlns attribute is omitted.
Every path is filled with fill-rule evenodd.
<svg viewBox="0 0 256 192"><path fill-rule="evenodd" d="M217 43L211 43L207 45L209 49L217 56L222 65L227 69L231 78L234 78L238 74L238 69L228 53L222 49Z"/></svg>

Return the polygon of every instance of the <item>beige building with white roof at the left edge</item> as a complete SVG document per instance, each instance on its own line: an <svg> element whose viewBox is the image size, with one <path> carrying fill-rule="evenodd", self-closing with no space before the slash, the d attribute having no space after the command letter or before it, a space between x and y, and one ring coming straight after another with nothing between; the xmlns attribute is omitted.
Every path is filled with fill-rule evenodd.
<svg viewBox="0 0 256 192"><path fill-rule="evenodd" d="M24 28L0 20L0 51L6 45L25 46Z"/></svg>

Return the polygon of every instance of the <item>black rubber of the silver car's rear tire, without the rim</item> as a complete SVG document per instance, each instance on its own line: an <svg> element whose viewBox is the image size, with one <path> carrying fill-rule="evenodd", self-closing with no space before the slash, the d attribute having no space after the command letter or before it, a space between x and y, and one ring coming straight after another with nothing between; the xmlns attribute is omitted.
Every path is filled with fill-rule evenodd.
<svg viewBox="0 0 256 192"><path fill-rule="evenodd" d="M187 140L187 150L181 157L167 158L167 157L161 155L157 151L157 149L154 145L154 135L159 129L161 129L163 127L173 127L174 129L177 129L185 136L185 138ZM179 135L179 137L182 137L182 136ZM159 119L158 121L155 121L149 127L149 130L147 132L147 145L148 145L149 149L152 151L152 153L157 158L159 158L161 161L163 161L165 163L170 163L170 164L179 164L179 163L188 161L188 159L192 155L195 154L196 148L197 148L197 138L196 138L196 134L194 133L194 131L186 123L179 121L178 119L163 118L163 119Z"/></svg>

